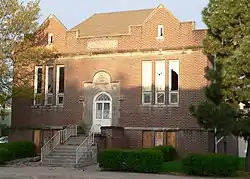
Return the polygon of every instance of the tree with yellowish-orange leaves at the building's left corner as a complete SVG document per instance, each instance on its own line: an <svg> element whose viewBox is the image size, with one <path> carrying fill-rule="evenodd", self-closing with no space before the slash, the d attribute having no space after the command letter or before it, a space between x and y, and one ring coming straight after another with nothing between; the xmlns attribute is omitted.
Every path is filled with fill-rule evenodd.
<svg viewBox="0 0 250 179"><path fill-rule="evenodd" d="M39 1L0 0L0 106L13 95L32 96L32 65L57 57L39 45L46 38L37 39L39 12Z"/></svg>

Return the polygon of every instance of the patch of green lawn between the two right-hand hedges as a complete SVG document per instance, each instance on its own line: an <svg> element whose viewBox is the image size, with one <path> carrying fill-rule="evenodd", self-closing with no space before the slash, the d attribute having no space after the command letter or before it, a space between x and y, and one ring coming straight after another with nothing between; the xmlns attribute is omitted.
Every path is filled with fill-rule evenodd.
<svg viewBox="0 0 250 179"><path fill-rule="evenodd" d="M164 162L162 166L163 173L183 173L181 160L174 160L170 162Z"/></svg>

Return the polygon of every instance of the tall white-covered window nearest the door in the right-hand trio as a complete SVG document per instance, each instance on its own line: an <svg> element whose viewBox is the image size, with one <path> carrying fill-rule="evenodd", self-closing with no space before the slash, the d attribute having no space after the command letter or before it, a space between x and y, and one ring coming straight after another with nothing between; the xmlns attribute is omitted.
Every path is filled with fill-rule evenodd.
<svg viewBox="0 0 250 179"><path fill-rule="evenodd" d="M142 104L152 103L152 61L142 62Z"/></svg>

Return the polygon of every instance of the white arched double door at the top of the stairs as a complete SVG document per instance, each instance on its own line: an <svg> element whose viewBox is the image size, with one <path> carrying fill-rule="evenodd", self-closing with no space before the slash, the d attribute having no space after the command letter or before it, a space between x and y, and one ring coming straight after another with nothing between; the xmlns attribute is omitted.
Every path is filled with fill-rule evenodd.
<svg viewBox="0 0 250 179"><path fill-rule="evenodd" d="M93 101L93 127L95 132L101 132L101 126L112 124L112 99L106 93L99 93Z"/></svg>

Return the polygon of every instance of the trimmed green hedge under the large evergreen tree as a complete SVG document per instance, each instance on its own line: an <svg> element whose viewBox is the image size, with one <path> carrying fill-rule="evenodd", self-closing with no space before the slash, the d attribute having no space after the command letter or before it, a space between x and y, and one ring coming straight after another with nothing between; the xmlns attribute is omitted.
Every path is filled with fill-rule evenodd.
<svg viewBox="0 0 250 179"><path fill-rule="evenodd" d="M196 176L234 176L239 158L221 154L191 154L182 160L183 172Z"/></svg>

